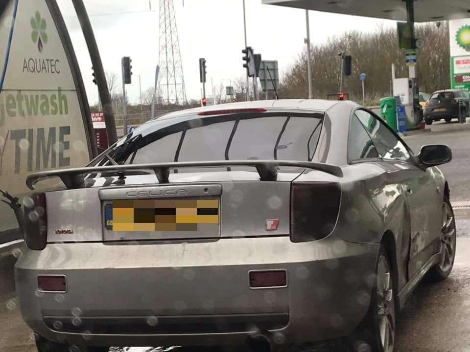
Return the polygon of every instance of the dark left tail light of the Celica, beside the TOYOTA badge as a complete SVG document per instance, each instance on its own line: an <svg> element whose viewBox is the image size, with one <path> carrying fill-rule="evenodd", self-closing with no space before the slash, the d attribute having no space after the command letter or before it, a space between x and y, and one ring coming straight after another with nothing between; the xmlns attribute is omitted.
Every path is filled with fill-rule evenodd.
<svg viewBox="0 0 470 352"><path fill-rule="evenodd" d="M24 241L30 249L42 250L47 243L46 194L26 198L24 204Z"/></svg>

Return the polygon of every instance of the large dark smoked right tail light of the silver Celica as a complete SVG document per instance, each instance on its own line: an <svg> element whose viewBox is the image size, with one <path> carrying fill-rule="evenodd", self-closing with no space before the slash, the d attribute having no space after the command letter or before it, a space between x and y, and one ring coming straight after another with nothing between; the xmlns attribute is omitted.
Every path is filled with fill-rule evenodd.
<svg viewBox="0 0 470 352"><path fill-rule="evenodd" d="M295 183L290 199L292 242L321 240L333 231L341 203L338 183Z"/></svg>

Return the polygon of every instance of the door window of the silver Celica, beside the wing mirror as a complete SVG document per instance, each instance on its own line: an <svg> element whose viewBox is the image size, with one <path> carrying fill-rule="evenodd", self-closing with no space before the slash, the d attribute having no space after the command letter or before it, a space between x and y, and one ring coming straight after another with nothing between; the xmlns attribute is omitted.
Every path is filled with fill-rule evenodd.
<svg viewBox="0 0 470 352"><path fill-rule="evenodd" d="M370 134L380 156L402 161L410 158L408 149L383 122L365 110L357 110L356 116Z"/></svg>

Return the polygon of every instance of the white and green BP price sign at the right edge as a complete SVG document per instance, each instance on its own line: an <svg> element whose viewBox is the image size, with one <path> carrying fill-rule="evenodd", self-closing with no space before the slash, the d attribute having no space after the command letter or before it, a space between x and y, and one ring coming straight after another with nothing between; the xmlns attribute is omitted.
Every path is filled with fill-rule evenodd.
<svg viewBox="0 0 470 352"><path fill-rule="evenodd" d="M470 91L470 19L449 21L450 83Z"/></svg>

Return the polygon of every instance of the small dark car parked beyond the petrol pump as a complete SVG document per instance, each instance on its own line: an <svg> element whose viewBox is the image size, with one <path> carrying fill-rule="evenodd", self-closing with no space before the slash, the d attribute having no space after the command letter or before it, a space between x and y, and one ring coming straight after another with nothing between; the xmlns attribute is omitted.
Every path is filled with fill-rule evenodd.
<svg viewBox="0 0 470 352"><path fill-rule="evenodd" d="M469 92L465 89L438 90L431 94L424 109L424 121L427 125L441 119L450 122L468 116L470 112Z"/></svg>

